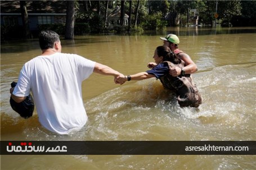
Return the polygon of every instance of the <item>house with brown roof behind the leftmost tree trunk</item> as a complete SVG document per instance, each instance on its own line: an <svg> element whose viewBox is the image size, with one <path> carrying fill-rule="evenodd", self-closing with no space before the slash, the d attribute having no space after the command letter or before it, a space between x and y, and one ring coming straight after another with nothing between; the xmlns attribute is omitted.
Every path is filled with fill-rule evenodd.
<svg viewBox="0 0 256 170"><path fill-rule="evenodd" d="M66 1L25 1L30 31L40 24L64 24ZM1 26L22 26L20 1L1 1Z"/></svg>

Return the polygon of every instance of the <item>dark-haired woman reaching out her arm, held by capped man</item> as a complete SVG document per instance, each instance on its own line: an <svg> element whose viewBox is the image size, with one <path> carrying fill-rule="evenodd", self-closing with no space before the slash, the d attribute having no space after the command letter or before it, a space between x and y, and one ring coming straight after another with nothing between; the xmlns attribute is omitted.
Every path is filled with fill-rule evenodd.
<svg viewBox="0 0 256 170"><path fill-rule="evenodd" d="M176 93L178 103L181 107L199 107L202 103L201 95L192 81L189 74L172 76L169 70L172 67L183 69L185 62L176 56L167 46L159 46L155 50L154 57L156 65L149 63L152 68L146 72L139 72L134 75L118 76L116 81L123 84L130 80L144 80L151 77L160 79L164 88Z"/></svg>

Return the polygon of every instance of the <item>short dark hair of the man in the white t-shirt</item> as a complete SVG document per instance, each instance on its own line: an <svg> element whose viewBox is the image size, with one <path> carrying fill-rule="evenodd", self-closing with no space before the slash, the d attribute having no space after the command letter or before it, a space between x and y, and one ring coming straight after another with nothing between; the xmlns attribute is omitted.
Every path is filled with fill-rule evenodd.
<svg viewBox="0 0 256 170"><path fill-rule="evenodd" d="M53 48L55 42L60 41L60 36L55 31L46 30L39 34L39 44L41 49Z"/></svg>

